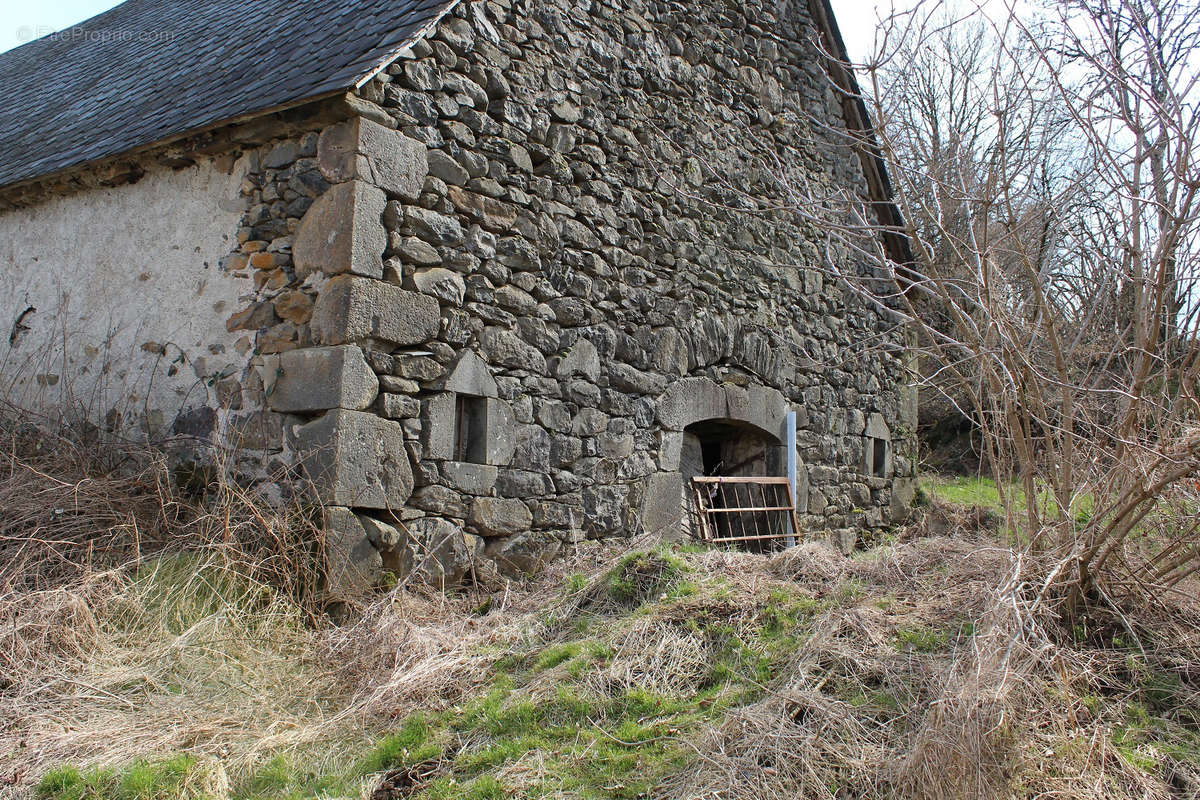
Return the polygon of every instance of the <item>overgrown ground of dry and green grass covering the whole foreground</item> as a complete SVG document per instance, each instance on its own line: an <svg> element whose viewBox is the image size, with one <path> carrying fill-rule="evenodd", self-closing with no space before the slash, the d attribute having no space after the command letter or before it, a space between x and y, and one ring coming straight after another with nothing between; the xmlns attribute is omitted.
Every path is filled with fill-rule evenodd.
<svg viewBox="0 0 1200 800"><path fill-rule="evenodd" d="M234 510L238 536L281 530ZM42 800L1195 796L1200 610L1006 627L992 533L917 524L852 558L581 547L343 626L264 552L43 571L0 593L0 752Z"/></svg>

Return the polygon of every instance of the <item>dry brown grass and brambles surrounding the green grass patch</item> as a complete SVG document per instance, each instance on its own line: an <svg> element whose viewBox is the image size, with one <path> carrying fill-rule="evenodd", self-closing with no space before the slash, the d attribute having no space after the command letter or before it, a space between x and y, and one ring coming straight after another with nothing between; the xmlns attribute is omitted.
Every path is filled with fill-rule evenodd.
<svg viewBox="0 0 1200 800"><path fill-rule="evenodd" d="M581 614L608 655L580 686L686 700L782 593L794 649L678 742L692 758L655 796L1200 798L1196 587L1063 631L1032 604L1039 565L971 519L936 535L953 511L854 558L683 553L694 585L677 595L664 557L592 547L524 585L397 591L335 626L301 506L224 481L188 495L151 451L2 429L0 796L64 763L175 753L215 798L280 753L336 770L410 714L485 692L505 656L577 637ZM523 691L552 697L564 674ZM496 775L516 792L552 762Z"/></svg>

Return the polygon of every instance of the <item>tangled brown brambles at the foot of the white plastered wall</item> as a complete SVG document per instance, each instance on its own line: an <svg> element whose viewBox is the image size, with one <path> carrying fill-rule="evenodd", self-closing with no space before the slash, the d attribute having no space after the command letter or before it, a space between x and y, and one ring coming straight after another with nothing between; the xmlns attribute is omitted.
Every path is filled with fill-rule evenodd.
<svg viewBox="0 0 1200 800"><path fill-rule="evenodd" d="M162 447L12 407L0 409L0 591L203 548L317 601L318 507L304 497L268 503L234 480L233 451L206 453L212 464L190 474Z"/></svg>

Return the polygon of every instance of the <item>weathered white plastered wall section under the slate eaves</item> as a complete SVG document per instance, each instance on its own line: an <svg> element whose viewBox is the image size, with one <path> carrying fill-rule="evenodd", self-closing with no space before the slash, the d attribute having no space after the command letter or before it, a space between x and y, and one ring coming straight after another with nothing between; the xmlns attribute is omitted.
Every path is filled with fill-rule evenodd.
<svg viewBox="0 0 1200 800"><path fill-rule="evenodd" d="M215 405L214 378L240 373L248 348L224 324L250 282L220 269L236 247L245 174L244 161L156 168L0 212L0 397L120 415L151 437Z"/></svg>

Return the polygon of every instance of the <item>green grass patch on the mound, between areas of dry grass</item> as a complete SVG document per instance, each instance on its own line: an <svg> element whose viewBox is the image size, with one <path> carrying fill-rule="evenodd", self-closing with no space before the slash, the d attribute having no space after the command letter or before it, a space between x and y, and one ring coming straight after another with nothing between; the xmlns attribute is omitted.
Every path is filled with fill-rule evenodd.
<svg viewBox="0 0 1200 800"><path fill-rule="evenodd" d="M686 765L688 740L780 678L817 614L857 596L816 600L774 582L748 597L727 573L700 573L686 559L638 552L586 585L568 577L565 604L539 614L553 625L494 658L488 679L463 702L408 715L348 764L314 769L294 754L264 754L256 769L230 776L228 796L349 796L378 781L430 800L647 796ZM578 595L587 602L570 602ZM199 603L188 614L196 601L172 597L178 607L168 616L185 614L181 625L214 610ZM58 774L43 781L47 800L71 800L79 786L90 792L79 800L124 800L115 772L90 783Z"/></svg>

